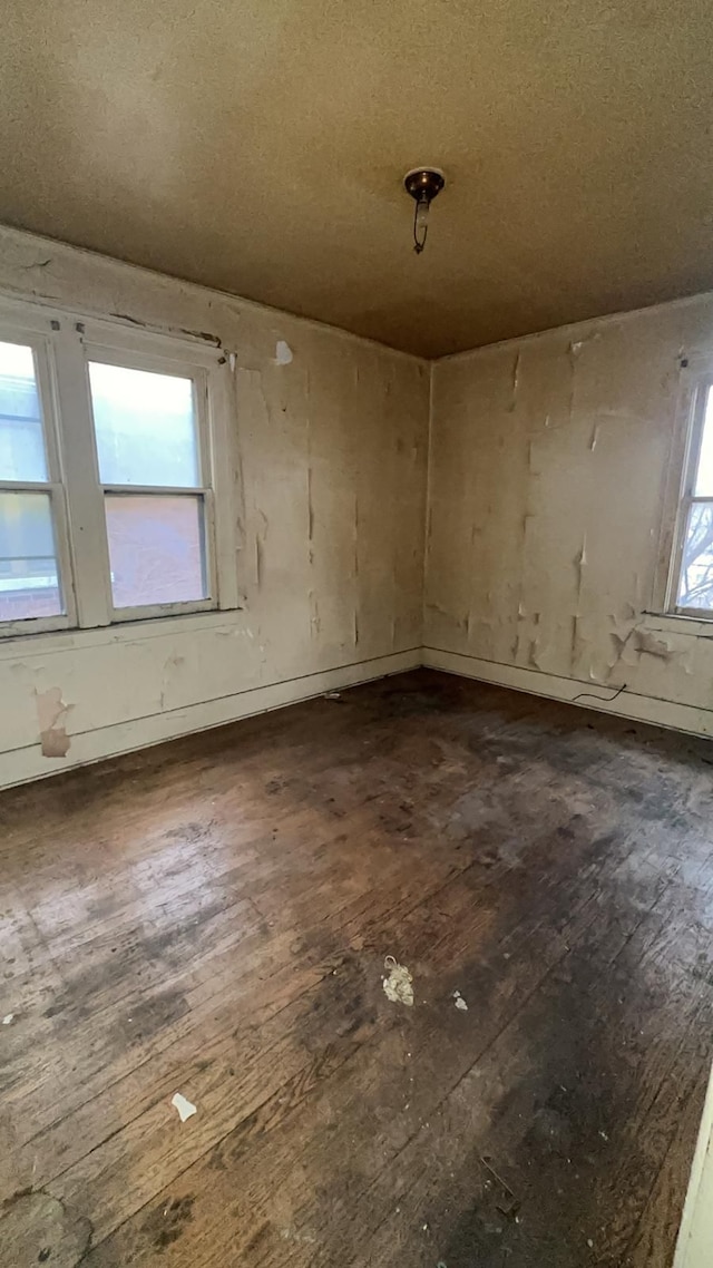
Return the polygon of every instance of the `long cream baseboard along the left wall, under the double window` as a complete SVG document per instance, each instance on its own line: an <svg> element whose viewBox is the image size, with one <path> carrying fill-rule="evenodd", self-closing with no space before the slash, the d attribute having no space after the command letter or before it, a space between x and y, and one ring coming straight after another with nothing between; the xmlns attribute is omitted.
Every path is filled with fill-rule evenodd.
<svg viewBox="0 0 713 1268"><path fill-rule="evenodd" d="M71 737L71 747L66 758L47 758L42 756L39 743L28 748L16 748L0 757L1 787L27 784L29 780L58 775L76 766L88 766L121 753L150 748L169 739L195 732L211 730L226 723L251 718L255 714L270 713L285 705L311 700L325 691L339 691L360 682L384 678L392 673L416 670L421 664L421 649L393 652L388 656L359 661L355 664L337 666L318 673L308 673L268 686L246 687L235 695L222 696L170 713L151 714L147 718L122 721L113 727L99 727L96 730Z"/></svg>

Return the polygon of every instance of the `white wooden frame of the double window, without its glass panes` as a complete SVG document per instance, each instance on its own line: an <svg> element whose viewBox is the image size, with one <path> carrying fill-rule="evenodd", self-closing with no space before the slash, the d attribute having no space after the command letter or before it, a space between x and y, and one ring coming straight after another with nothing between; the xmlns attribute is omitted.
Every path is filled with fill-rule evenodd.
<svg viewBox="0 0 713 1268"><path fill-rule="evenodd" d="M0 339L33 347L49 482L0 482L0 489L44 491L52 498L55 544L66 612L0 623L0 639L96 629L240 606L237 583L239 462L228 358L190 337L136 330L121 322L0 297ZM203 498L208 597L194 602L115 609L112 600L104 486L99 479L89 361L190 378L200 454L197 489L121 486L121 493L192 493ZM117 486L117 488L119 488Z"/></svg>

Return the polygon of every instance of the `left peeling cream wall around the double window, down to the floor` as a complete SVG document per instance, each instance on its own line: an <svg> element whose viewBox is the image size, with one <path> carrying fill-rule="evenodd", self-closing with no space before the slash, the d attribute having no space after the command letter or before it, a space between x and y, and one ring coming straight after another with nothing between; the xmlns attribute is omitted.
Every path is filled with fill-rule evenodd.
<svg viewBox="0 0 713 1268"><path fill-rule="evenodd" d="M420 662L425 363L8 228L0 290L221 341L242 602L0 643L0 784Z"/></svg>

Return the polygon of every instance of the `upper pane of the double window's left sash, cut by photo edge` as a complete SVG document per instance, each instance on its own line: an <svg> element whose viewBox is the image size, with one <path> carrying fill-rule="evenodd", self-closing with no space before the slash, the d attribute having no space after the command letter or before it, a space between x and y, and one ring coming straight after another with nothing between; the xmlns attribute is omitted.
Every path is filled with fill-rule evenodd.
<svg viewBox="0 0 713 1268"><path fill-rule="evenodd" d="M0 342L0 479L47 479L34 358L23 344Z"/></svg>

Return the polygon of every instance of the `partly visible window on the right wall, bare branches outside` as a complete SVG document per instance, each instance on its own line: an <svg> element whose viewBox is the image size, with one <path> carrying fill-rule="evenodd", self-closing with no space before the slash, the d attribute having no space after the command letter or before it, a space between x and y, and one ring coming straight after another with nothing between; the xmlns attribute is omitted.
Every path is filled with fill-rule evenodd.
<svg viewBox="0 0 713 1268"><path fill-rule="evenodd" d="M713 620L713 377L693 397L670 607Z"/></svg>

